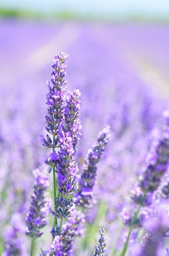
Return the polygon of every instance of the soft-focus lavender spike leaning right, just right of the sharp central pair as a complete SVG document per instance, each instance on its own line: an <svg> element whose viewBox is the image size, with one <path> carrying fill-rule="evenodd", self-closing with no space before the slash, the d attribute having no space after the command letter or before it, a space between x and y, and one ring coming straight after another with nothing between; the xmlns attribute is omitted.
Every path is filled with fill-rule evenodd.
<svg viewBox="0 0 169 256"><path fill-rule="evenodd" d="M106 144L110 140L109 130L110 126L106 126L101 132L99 132L92 148L88 150L85 164L83 165L83 172L79 179L79 190L75 194L76 205L86 208L92 207L93 186L95 184L97 170L96 164L99 162Z"/></svg>

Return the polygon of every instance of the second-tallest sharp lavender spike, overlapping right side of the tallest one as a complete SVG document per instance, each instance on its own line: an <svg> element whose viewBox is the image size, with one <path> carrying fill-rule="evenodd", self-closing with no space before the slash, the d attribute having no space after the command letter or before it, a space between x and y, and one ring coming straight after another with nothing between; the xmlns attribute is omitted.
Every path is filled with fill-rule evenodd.
<svg viewBox="0 0 169 256"><path fill-rule="evenodd" d="M79 90L73 93L68 92L64 108L64 117L59 127L59 151L56 172L58 174L58 197L55 212L52 212L56 218L60 218L58 234L61 234L63 219L70 216L70 212L74 207L72 195L78 186L76 183L76 175L78 165L75 164L74 155L76 154L76 146L80 135L79 109L81 96Z"/></svg>

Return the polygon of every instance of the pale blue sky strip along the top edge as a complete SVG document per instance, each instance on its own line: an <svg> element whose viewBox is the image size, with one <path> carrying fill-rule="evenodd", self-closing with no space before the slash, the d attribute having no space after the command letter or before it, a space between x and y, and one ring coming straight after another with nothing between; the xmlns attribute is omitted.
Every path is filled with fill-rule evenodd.
<svg viewBox="0 0 169 256"><path fill-rule="evenodd" d="M0 7L43 12L169 15L169 0L0 0Z"/></svg>

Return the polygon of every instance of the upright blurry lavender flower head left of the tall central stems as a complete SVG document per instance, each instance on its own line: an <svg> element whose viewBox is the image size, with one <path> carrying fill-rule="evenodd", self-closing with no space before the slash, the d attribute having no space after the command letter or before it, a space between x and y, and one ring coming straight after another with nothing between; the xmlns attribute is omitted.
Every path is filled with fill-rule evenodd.
<svg viewBox="0 0 169 256"><path fill-rule="evenodd" d="M31 199L31 207L26 218L26 234L33 239L42 236L40 231L48 223L47 214L49 212L50 199L47 198L46 190L49 187L47 174L41 169L33 170L34 193Z"/></svg>

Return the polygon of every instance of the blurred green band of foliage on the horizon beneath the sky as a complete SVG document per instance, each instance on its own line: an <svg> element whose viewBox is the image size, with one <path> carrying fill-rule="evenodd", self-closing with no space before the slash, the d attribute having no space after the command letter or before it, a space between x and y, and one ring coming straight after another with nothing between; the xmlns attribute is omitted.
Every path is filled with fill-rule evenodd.
<svg viewBox="0 0 169 256"><path fill-rule="evenodd" d="M82 14L77 12L62 11L43 13L29 10L8 9L0 7L0 18L42 19L42 20L77 20L77 21L103 21L103 22L144 22L168 23L169 16L145 16L142 13L129 13L126 15Z"/></svg>

